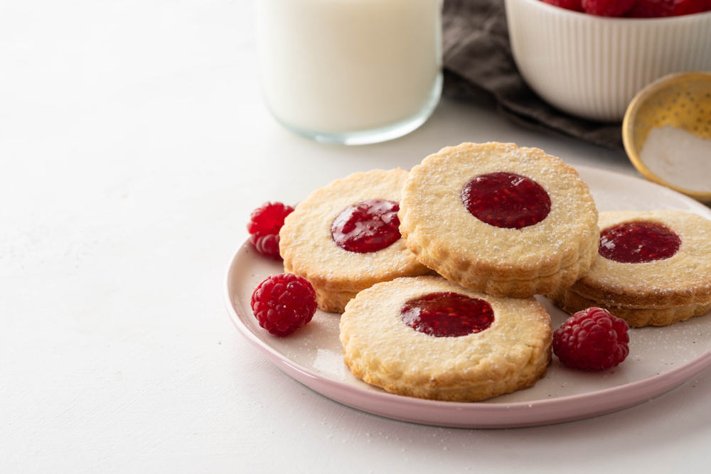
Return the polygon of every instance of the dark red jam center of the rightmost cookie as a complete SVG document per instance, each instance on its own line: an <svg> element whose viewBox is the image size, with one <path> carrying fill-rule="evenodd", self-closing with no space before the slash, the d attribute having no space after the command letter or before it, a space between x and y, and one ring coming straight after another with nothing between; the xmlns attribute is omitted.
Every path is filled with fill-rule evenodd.
<svg viewBox="0 0 711 474"><path fill-rule="evenodd" d="M656 222L625 222L600 232L599 254L621 264L643 264L672 257L681 239Z"/></svg>

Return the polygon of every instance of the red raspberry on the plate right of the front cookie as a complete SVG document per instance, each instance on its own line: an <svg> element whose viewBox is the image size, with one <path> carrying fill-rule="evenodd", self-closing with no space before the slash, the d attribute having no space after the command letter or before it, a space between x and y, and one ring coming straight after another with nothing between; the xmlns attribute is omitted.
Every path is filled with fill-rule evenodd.
<svg viewBox="0 0 711 474"><path fill-rule="evenodd" d="M629 354L629 325L602 308L587 308L567 318L553 333L553 353L568 367L605 370Z"/></svg>

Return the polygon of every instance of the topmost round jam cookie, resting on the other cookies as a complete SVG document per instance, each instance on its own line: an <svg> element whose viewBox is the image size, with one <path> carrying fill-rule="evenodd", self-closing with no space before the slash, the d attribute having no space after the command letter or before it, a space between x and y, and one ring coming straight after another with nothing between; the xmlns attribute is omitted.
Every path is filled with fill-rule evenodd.
<svg viewBox="0 0 711 474"><path fill-rule="evenodd" d="M442 149L410 172L399 215L420 262L496 296L565 288L597 257L597 210L587 184L539 149Z"/></svg>

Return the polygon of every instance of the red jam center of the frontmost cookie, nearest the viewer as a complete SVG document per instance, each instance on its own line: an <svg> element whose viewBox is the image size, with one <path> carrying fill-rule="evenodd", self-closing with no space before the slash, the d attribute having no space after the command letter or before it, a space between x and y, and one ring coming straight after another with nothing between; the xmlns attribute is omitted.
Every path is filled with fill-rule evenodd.
<svg viewBox="0 0 711 474"><path fill-rule="evenodd" d="M407 301L400 316L410 328L435 338L481 333L493 323L489 303L450 292L429 293Z"/></svg>

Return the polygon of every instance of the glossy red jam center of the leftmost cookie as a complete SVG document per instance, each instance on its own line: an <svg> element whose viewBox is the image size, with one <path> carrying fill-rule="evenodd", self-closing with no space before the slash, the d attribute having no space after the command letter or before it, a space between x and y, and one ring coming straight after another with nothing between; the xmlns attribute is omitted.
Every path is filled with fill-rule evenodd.
<svg viewBox="0 0 711 474"><path fill-rule="evenodd" d="M331 224L333 242L359 254L385 249L400 239L398 210L398 203L383 199L350 205Z"/></svg>

